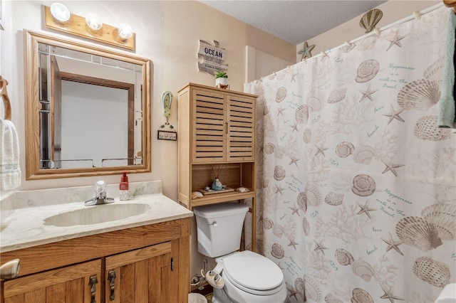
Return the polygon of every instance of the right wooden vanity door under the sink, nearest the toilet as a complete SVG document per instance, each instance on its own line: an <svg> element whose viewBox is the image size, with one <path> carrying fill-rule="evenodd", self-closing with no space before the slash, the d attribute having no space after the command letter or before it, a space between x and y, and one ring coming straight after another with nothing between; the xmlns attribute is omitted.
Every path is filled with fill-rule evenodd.
<svg viewBox="0 0 456 303"><path fill-rule="evenodd" d="M170 242L106 257L105 302L177 302L172 266Z"/></svg>

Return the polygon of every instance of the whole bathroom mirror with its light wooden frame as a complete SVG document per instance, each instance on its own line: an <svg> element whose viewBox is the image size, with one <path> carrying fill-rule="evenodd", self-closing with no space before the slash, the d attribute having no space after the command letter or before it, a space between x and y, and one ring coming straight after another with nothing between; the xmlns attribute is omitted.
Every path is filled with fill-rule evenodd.
<svg viewBox="0 0 456 303"><path fill-rule="evenodd" d="M26 179L150 172L150 60L24 35Z"/></svg>

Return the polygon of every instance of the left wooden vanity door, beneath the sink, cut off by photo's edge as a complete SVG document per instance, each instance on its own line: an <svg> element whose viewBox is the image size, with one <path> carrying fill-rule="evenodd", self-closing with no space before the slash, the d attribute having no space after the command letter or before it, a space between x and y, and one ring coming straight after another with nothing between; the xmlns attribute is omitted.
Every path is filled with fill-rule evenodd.
<svg viewBox="0 0 456 303"><path fill-rule="evenodd" d="M101 261L2 282L4 303L100 303Z"/></svg>

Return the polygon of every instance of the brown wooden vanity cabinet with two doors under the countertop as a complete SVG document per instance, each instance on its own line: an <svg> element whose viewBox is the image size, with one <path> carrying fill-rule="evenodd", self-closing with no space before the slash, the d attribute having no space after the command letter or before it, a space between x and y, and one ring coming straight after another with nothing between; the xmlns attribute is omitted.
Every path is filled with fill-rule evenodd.
<svg viewBox="0 0 456 303"><path fill-rule="evenodd" d="M190 220L3 252L1 262L17 257L21 270L1 280L0 302L187 302Z"/></svg>

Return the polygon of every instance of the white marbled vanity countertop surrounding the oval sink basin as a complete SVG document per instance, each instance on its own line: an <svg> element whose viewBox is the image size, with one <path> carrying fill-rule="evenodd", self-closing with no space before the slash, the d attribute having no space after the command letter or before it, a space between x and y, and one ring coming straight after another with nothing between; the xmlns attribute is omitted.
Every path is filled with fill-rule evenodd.
<svg viewBox="0 0 456 303"><path fill-rule="evenodd" d="M91 225L72 225L57 227L45 225L45 219L60 213L75 211L88 207L109 207L111 205L141 203L150 208L137 216L113 220ZM179 203L163 196L162 193L146 194L130 197L128 201L118 201L101 206L84 206L84 202L61 203L44 206L16 208L0 225L0 252L30 248L36 245L58 242L72 238L106 233L113 230L133 228L141 225L165 222L193 216L192 211L180 206Z"/></svg>

